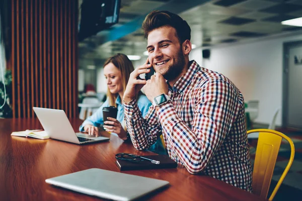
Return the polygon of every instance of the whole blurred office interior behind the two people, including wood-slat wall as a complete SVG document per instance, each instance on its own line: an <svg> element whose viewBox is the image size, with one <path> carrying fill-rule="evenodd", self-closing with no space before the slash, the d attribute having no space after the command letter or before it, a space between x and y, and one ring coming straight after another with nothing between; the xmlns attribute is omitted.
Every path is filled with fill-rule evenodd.
<svg viewBox="0 0 302 201"><path fill-rule="evenodd" d="M135 67L146 60L141 24L152 10L188 22L190 60L237 85L248 128L302 129L299 0L3 0L0 116L34 117L38 106L79 117L86 96L100 102L93 113L106 99L104 61L117 53Z"/></svg>

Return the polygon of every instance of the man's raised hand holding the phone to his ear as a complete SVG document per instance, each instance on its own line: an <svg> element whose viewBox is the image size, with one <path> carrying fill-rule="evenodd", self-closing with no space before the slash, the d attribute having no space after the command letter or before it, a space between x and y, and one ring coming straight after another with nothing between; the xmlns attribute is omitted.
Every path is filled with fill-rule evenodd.
<svg viewBox="0 0 302 201"><path fill-rule="evenodd" d="M150 72L149 68L151 67L151 64L148 64L148 63L149 63L149 60L147 59L143 65L138 66L137 68L134 69L133 72L131 72L125 92L124 92L124 96L123 96L124 102L129 103L135 97L135 95L138 93L138 91L143 87L143 85L146 84L146 80L137 79L137 77L140 74Z"/></svg>

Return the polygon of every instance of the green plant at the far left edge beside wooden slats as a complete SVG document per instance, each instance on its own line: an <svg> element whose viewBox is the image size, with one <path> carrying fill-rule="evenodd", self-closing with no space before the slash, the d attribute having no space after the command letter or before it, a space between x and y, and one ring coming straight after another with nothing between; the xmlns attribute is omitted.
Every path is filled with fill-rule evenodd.
<svg viewBox="0 0 302 201"><path fill-rule="evenodd" d="M10 100L12 99L12 71L7 70L4 77L4 83L0 82L0 106L4 104L5 98L5 90L6 88L6 103L3 108L0 109L0 117L3 118L12 118L13 117L13 110L12 106L10 105Z"/></svg>

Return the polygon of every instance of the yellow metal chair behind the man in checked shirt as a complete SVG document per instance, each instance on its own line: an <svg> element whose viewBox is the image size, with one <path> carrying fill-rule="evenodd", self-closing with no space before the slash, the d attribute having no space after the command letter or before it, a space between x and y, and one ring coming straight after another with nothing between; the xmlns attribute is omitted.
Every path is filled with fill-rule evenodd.
<svg viewBox="0 0 302 201"><path fill-rule="evenodd" d="M282 139L284 138L287 140L290 145L290 158L288 164L268 199L272 200L292 164L294 158L294 145L289 137L278 131L270 129L253 129L249 130L247 133L250 134L254 132L259 132L259 138L256 149L252 186L254 193L260 197L267 197Z"/></svg>

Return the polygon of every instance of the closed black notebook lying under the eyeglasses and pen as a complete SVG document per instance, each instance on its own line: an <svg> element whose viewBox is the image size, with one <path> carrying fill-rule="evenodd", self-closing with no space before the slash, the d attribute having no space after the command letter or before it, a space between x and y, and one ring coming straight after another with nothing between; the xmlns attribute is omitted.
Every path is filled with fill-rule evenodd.
<svg viewBox="0 0 302 201"><path fill-rule="evenodd" d="M116 159L115 164L117 167L123 170L142 170L142 169L162 169L162 168L174 168L177 167L177 163L172 160L169 155L150 155L143 156L152 160L160 161L160 164L154 164L149 160L143 160L139 162L131 162L127 160Z"/></svg>

